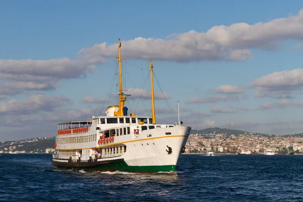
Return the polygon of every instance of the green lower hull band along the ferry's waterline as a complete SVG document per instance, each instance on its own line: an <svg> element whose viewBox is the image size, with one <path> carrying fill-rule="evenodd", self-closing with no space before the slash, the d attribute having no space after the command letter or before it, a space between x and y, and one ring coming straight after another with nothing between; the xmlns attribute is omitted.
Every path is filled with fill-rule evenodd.
<svg viewBox="0 0 303 202"><path fill-rule="evenodd" d="M84 171L126 171L136 173L157 173L157 172L170 172L176 171L176 165L165 166L128 166L125 161L112 162L109 164L97 165L93 167L62 167L64 169L84 170Z"/></svg>

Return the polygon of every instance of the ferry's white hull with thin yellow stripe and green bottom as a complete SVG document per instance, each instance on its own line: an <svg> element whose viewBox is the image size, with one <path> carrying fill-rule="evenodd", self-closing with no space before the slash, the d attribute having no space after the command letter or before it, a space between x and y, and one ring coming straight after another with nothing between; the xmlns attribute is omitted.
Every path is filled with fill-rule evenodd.
<svg viewBox="0 0 303 202"><path fill-rule="evenodd" d="M98 144L98 141L59 144L59 153L53 156L53 164L87 171L175 172L190 128L159 126L161 128L140 131L139 135L132 132L129 135L115 136L114 142L105 144ZM121 147L126 149L121 152ZM96 149L102 151L101 154L96 155ZM81 158L78 154L66 156L66 153L61 153L60 150L72 150L76 153L82 150L82 155Z"/></svg>

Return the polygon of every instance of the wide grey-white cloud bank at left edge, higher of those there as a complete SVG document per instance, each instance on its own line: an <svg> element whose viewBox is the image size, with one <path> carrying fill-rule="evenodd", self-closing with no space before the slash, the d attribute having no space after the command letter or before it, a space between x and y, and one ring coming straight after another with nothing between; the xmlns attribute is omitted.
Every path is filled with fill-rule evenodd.
<svg viewBox="0 0 303 202"><path fill-rule="evenodd" d="M86 76L94 64L77 59L0 60L0 95L15 95L24 90L52 90L61 79Z"/></svg>

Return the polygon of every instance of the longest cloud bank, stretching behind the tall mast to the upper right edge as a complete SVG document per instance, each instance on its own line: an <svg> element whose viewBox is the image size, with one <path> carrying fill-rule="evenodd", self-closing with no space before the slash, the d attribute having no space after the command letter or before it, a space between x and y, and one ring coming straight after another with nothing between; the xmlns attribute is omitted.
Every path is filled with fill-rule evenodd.
<svg viewBox="0 0 303 202"><path fill-rule="evenodd" d="M136 37L122 41L123 57L170 60L179 62L200 60L243 61L252 57L249 48L273 50L281 41L302 40L303 10L298 15L277 18L254 25L236 23L214 26L207 32L189 31L169 34L165 39ZM82 48L79 53L92 61L104 62L117 55L118 44L106 42Z"/></svg>

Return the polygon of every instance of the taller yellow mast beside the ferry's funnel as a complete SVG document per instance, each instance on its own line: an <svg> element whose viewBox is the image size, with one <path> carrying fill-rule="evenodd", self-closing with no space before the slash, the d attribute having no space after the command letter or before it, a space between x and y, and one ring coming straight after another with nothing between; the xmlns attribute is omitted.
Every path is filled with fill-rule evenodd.
<svg viewBox="0 0 303 202"><path fill-rule="evenodd" d="M115 112L115 116L123 116L123 107L124 102L126 100L126 95L124 95L124 91L122 90L122 68L121 68L121 60L125 60L121 58L121 42L120 38L118 40L118 49L119 49L119 58L114 60L119 60L119 95L120 95L120 102L119 102L119 111Z"/></svg>

